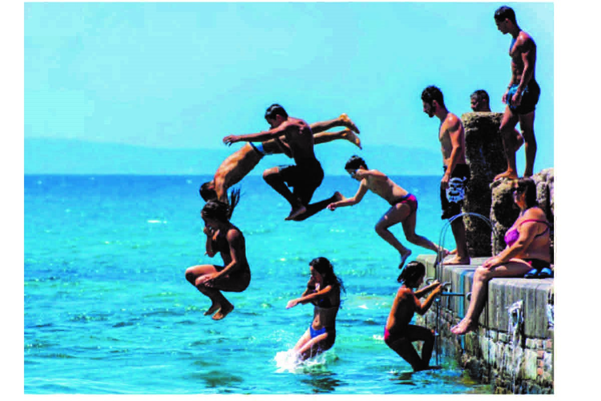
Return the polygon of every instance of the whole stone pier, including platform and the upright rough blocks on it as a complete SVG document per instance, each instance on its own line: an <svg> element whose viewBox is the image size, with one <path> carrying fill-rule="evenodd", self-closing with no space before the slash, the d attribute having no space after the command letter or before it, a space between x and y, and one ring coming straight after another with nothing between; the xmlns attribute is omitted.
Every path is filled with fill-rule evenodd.
<svg viewBox="0 0 601 401"><path fill-rule="evenodd" d="M505 248L504 234L519 213L514 205L510 180L493 182L505 171L499 124L500 113L465 113L466 161L471 178L465 193L463 216L471 265L435 266L435 256L419 256L426 277L450 282L445 292L468 294L475 269L491 254ZM547 168L532 179L537 202L555 233L554 169ZM476 216L474 213L477 213ZM486 217L490 226L483 221ZM451 230L449 230L450 232ZM453 242L451 238L447 238ZM448 242L451 249L453 245ZM551 243L551 260L555 244ZM553 266L555 271L555 266ZM472 378L493 385L495 393L552 394L554 392L554 279L493 278L488 301L477 331L457 336L450 329L461 320L469 305L466 296L442 296L418 325L436 329L442 354L469 370Z"/></svg>

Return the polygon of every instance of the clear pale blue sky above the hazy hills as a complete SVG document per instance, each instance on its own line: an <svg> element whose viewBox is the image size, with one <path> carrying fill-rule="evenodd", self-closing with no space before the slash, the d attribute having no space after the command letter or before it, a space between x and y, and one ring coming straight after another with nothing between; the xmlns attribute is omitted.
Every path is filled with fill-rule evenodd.
<svg viewBox="0 0 601 401"><path fill-rule="evenodd" d="M459 115L478 88L504 109L502 4L26 3L24 136L221 148L278 102L310 123L347 112L366 147L438 149L427 85ZM554 165L554 5L507 4L538 46L538 171Z"/></svg>

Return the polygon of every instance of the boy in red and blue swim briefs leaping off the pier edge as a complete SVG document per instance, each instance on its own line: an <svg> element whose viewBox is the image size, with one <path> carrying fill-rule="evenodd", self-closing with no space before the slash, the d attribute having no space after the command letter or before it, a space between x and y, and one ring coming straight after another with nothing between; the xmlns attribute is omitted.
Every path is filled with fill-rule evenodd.
<svg viewBox="0 0 601 401"><path fill-rule="evenodd" d="M389 227L397 223L403 224L405 238L410 243L430 249L436 253L441 252L443 257L447 256L447 249L440 248L426 237L415 233L417 212L417 199L415 195L409 194L409 192L395 184L386 174L377 170L368 170L365 161L359 158L359 156L352 156L344 166L344 169L353 179L360 182L359 189L352 198L343 198L340 201L331 203L328 205L328 209L335 210L337 207L358 204L368 190L380 195L391 207L377 222L376 233L383 240L394 246L394 249L397 249L398 253L401 254L401 263L398 265L399 269L403 267L411 251L398 242L396 237L388 230Z"/></svg>

